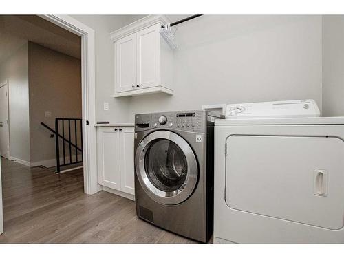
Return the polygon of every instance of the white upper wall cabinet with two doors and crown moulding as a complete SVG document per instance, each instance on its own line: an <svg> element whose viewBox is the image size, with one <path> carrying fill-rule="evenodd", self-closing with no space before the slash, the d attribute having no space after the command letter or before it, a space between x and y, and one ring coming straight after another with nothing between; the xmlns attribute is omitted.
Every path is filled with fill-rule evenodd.
<svg viewBox="0 0 344 258"><path fill-rule="evenodd" d="M115 47L114 97L173 94L173 50L160 36L164 16L149 15L111 33Z"/></svg>

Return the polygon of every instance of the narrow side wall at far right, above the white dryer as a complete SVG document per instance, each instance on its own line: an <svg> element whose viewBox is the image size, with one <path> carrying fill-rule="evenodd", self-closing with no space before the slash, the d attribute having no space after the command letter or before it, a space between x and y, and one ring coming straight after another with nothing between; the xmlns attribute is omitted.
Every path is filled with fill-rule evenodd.
<svg viewBox="0 0 344 258"><path fill-rule="evenodd" d="M344 116L344 16L323 16L323 116Z"/></svg>

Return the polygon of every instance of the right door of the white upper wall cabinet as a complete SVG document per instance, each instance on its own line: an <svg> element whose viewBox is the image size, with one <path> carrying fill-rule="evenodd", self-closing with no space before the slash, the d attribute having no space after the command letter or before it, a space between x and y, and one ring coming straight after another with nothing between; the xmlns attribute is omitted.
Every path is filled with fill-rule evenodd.
<svg viewBox="0 0 344 258"><path fill-rule="evenodd" d="M138 89L160 86L160 24L136 33Z"/></svg>

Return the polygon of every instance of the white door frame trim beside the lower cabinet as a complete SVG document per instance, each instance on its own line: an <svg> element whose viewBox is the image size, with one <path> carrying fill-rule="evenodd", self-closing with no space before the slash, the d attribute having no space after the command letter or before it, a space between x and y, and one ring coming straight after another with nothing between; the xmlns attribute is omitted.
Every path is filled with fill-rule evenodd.
<svg viewBox="0 0 344 258"><path fill-rule="evenodd" d="M94 127L96 124L94 30L68 15L39 16L81 37L84 191L92 195L102 189L97 179L96 127Z"/></svg>

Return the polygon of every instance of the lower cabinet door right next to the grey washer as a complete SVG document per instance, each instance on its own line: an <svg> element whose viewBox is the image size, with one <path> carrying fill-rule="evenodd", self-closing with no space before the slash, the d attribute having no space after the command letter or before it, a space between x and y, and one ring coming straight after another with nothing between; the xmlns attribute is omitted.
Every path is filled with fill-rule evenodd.
<svg viewBox="0 0 344 258"><path fill-rule="evenodd" d="M120 171L121 191L135 194L133 169L133 127L121 127L120 133Z"/></svg>

